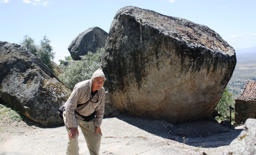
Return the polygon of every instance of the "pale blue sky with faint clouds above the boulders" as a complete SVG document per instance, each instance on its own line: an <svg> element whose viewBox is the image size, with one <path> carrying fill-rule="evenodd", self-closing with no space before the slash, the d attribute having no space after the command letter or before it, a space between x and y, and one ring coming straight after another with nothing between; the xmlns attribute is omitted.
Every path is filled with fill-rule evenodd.
<svg viewBox="0 0 256 155"><path fill-rule="evenodd" d="M235 49L256 46L255 0L0 0L0 41L19 43L28 34L39 44L46 35L59 64L79 33L93 26L109 32L117 10L125 6L203 24Z"/></svg>

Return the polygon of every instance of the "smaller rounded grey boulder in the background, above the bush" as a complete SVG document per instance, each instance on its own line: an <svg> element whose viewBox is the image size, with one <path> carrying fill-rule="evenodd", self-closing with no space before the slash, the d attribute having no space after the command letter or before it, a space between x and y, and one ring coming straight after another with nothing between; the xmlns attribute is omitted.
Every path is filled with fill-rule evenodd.
<svg viewBox="0 0 256 155"><path fill-rule="evenodd" d="M78 34L68 46L68 51L74 60L81 60L79 56L86 55L88 51L95 53L97 48L105 47L108 33L99 27L91 27Z"/></svg>

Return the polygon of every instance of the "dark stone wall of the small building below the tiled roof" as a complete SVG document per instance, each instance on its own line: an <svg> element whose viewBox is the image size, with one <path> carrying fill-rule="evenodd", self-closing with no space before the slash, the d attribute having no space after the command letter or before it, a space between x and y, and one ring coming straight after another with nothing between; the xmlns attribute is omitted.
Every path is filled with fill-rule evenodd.
<svg viewBox="0 0 256 155"><path fill-rule="evenodd" d="M244 124L248 118L256 119L256 101L236 100L235 124Z"/></svg>

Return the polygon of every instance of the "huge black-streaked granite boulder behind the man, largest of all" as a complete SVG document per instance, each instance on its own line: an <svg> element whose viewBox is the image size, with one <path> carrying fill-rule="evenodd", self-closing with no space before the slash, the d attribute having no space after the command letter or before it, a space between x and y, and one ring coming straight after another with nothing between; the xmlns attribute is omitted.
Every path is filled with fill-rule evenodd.
<svg viewBox="0 0 256 155"><path fill-rule="evenodd" d="M174 123L212 114L236 55L207 26L128 6L112 21L101 65L117 110Z"/></svg>

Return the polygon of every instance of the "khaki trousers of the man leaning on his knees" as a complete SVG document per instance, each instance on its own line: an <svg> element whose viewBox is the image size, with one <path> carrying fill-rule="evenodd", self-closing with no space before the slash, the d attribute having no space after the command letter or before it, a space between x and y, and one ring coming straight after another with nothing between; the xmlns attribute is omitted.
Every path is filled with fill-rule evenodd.
<svg viewBox="0 0 256 155"><path fill-rule="evenodd" d="M76 127L77 126L79 126L83 132L90 155L99 155L101 135L99 133L94 135L96 128L94 120L86 122L76 118ZM69 132L69 128L67 128L67 130ZM71 138L68 141L66 155L79 155L78 151L78 135L76 133L74 140Z"/></svg>

